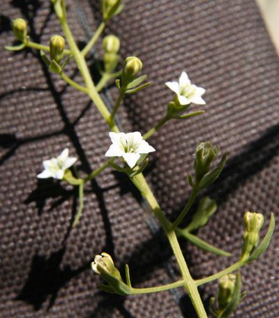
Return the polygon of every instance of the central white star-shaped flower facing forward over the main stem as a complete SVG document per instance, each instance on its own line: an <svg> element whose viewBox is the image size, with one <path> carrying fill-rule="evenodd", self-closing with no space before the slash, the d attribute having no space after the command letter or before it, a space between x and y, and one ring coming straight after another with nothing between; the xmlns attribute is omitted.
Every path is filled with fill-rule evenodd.
<svg viewBox="0 0 279 318"><path fill-rule="evenodd" d="M106 157L123 157L130 168L135 167L137 160L143 153L150 153L155 149L142 139L142 134L138 131L128 132L110 132L112 145L105 153Z"/></svg>

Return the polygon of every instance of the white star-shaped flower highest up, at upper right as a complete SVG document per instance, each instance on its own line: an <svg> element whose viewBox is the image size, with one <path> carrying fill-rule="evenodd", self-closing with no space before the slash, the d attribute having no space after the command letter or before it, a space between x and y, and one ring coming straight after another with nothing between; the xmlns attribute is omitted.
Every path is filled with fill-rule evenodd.
<svg viewBox="0 0 279 318"><path fill-rule="evenodd" d="M176 93L180 105L188 105L190 103L205 104L205 101L202 99L205 89L191 84L186 72L181 73L179 82L167 82L165 84Z"/></svg>

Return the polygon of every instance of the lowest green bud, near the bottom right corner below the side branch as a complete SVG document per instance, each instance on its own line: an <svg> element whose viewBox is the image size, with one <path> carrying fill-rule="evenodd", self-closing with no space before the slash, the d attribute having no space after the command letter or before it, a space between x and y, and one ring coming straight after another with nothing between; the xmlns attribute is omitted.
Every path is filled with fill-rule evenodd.
<svg viewBox="0 0 279 318"><path fill-rule="evenodd" d="M218 285L218 304L220 310L224 310L232 300L232 294L234 294L235 283L236 275L234 274L224 275L220 278Z"/></svg>

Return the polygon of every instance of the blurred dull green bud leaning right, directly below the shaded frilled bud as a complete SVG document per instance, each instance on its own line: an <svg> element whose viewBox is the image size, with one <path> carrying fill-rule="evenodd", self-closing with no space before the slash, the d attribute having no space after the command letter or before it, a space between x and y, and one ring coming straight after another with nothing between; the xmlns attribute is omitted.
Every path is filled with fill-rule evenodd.
<svg viewBox="0 0 279 318"><path fill-rule="evenodd" d="M188 232L195 231L203 227L208 222L209 218L217 211L216 201L210 197L202 197L199 199L197 211L193 215L192 221L186 227Z"/></svg>

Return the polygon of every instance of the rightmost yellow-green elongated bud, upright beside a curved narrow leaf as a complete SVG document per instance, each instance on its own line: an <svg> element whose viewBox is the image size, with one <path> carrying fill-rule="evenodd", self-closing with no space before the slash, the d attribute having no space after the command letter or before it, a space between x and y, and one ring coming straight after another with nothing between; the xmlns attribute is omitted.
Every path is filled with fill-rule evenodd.
<svg viewBox="0 0 279 318"><path fill-rule="evenodd" d="M243 234L241 259L246 259L259 243L259 232L264 224L264 215L261 213L246 212L243 221L245 232Z"/></svg>

